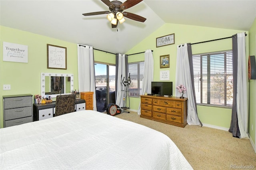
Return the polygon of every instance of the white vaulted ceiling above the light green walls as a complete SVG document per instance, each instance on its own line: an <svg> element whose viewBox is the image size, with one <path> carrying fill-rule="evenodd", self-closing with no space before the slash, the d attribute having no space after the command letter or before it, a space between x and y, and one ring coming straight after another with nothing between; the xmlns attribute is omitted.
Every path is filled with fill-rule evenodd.
<svg viewBox="0 0 256 170"><path fill-rule="evenodd" d="M108 6L100 0L0 0L0 24L125 53L164 23L248 31L256 18L256 0L144 0L125 11L147 20L126 18L118 31L106 14L82 15L98 11L108 11Z"/></svg>

